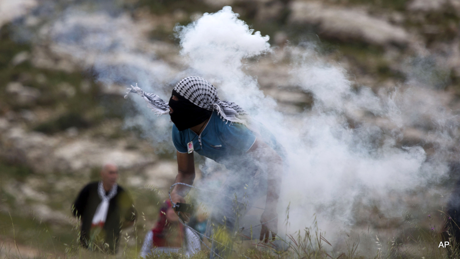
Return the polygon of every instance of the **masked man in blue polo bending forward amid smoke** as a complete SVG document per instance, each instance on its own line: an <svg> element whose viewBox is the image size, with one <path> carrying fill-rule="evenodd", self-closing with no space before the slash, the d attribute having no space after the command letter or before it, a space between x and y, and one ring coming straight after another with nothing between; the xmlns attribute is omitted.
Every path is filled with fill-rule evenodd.
<svg viewBox="0 0 460 259"><path fill-rule="evenodd" d="M220 100L217 89L201 77L186 77L178 82L168 103L138 87L128 90L141 95L152 111L171 116L178 162L176 182L193 184L194 152L225 165L230 171L220 190L222 195L215 197L210 224L213 237L217 232L222 233L222 229L231 237L238 230L244 207L263 207L264 204L254 202L266 195L260 240L268 241L270 231L275 239L283 164L282 146L275 137L240 106ZM171 192L172 201L185 202L188 191L186 186L176 185ZM226 253L223 250L227 248L213 241L211 258Z"/></svg>

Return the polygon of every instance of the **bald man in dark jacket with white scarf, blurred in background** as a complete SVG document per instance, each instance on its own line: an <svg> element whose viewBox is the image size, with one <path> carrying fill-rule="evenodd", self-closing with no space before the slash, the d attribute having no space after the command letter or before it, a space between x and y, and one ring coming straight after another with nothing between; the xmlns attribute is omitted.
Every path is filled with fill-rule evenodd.
<svg viewBox="0 0 460 259"><path fill-rule="evenodd" d="M134 224L137 212L133 201L117 180L118 166L107 163L102 167L101 180L88 183L78 194L72 213L81 218L83 247L115 253L121 229Z"/></svg>

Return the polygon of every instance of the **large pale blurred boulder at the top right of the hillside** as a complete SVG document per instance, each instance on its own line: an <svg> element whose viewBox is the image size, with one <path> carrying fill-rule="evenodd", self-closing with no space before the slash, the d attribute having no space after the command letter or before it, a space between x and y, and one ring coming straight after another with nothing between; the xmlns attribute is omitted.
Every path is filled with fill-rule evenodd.
<svg viewBox="0 0 460 259"><path fill-rule="evenodd" d="M296 0L290 3L289 23L318 26L319 33L340 41L405 46L409 35L402 27L370 16L365 10L326 6L320 1Z"/></svg>

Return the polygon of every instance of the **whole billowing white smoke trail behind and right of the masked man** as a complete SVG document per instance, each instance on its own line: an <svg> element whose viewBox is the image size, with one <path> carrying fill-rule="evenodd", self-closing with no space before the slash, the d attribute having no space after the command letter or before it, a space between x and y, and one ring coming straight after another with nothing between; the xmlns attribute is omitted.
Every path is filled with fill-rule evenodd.
<svg viewBox="0 0 460 259"><path fill-rule="evenodd" d="M282 114L256 79L241 71L243 58L268 51L263 44L267 38L252 34L230 7L180 29L181 53L193 71L217 82L219 94L251 111L287 149L290 168L283 178L280 208L291 204L290 231L311 225L316 215L320 229L337 235L355 224L356 206L374 202L385 215L400 216L395 208L404 204L387 199L391 193L402 195L447 171L445 161L427 160L422 147L397 145L406 117L423 113L407 103L413 98L411 88L383 98L368 88L355 91L343 69L313 58L309 49L294 48L293 56L299 58L293 60L292 83L311 92L314 105L311 112ZM399 128L387 133L360 115L363 111ZM435 113L433 118L439 111ZM354 128L349 118L357 120Z"/></svg>

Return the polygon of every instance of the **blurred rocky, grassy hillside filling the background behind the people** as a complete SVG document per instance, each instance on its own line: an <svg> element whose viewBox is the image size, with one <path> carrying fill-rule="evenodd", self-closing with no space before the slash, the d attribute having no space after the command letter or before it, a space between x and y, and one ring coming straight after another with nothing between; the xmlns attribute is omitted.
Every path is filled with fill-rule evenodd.
<svg viewBox="0 0 460 259"><path fill-rule="evenodd" d="M153 145L142 130L127 126L125 118L138 114L123 99L127 85L95 80L94 60L70 57L53 42L40 40L40 33L46 34L39 31L46 28L44 17L58 17L68 6L96 4L107 5L136 26L134 49L156 53L155 59L177 71L183 65L174 26L232 6L251 28L270 36L274 51L248 60L247 73L258 78L283 112L311 107L311 93L286 80L296 48L311 47L328 62L340 64L356 89L366 86L379 94L416 81L426 86L420 102L423 94L435 95L438 105L458 116L460 0L0 0L3 240L12 240L13 222L21 232L15 236L19 243L28 244L33 236L46 240L31 245L35 248L70 243L75 239L69 231L75 223L70 204L86 182L97 179L104 161L120 166L121 184L133 195L141 216L138 231L151 228L158 202L166 197L161 191L173 183L177 165L171 144ZM350 115L351 124L357 120L388 131L397 127L367 114ZM457 142L439 143L430 136L430 120L417 118L406 125L399 144L421 145L427 153L449 146L454 162ZM458 130L452 130L458 137ZM35 248L29 249L31 254Z"/></svg>

